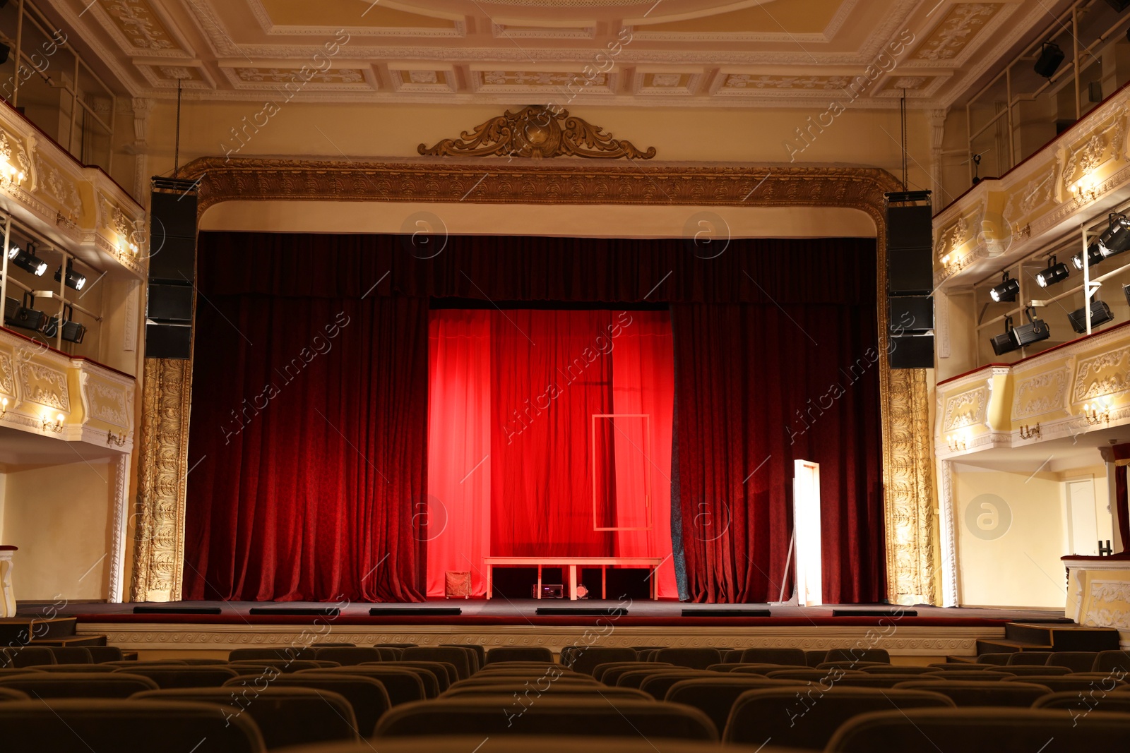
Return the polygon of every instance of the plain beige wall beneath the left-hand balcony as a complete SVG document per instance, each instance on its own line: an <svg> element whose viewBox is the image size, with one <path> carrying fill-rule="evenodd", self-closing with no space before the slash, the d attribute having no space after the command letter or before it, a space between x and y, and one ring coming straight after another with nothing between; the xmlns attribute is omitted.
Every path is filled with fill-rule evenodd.
<svg viewBox="0 0 1130 753"><path fill-rule="evenodd" d="M12 569L18 601L105 599L110 573L113 465L8 465L2 539L19 546Z"/></svg>

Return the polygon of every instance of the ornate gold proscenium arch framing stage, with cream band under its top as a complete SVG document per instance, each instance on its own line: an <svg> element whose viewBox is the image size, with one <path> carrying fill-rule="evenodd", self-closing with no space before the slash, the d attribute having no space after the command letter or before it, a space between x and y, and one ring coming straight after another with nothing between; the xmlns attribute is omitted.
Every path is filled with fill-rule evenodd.
<svg viewBox="0 0 1130 753"><path fill-rule="evenodd" d="M790 221L800 226L792 237L812 237L810 222L816 217L824 220L820 236L875 237L880 291L879 393L888 598L899 604L936 602L937 522L927 373L892 369L886 356L887 307L881 295L886 290L884 193L901 190L886 170L842 165L593 164L568 158L360 163L209 157L186 165L181 176L199 180L199 218L201 227L209 229L327 231L325 224L333 220L334 233L344 228L355 233L403 233L402 222L412 212L402 210L416 211L418 205L418 211L452 222L454 227L446 228L451 234L475 234L476 227L487 228L484 222L494 218L497 225L479 231L529 235L531 219L540 217L544 225L537 235L577 235L575 214L560 219L560 209L572 208L585 211L590 228L581 235L589 236L671 237L672 227L678 228L677 235L684 235L680 222L696 211L712 211L729 226L733 237L782 237L780 229L772 234L760 230L776 228L779 221L785 229ZM374 212L366 219L364 211L354 210L357 204L342 207L342 202L403 207L386 217ZM676 208L678 212L672 212ZM794 216L786 211L789 208L818 211ZM523 211L515 211L520 209ZM321 228L308 225L315 214ZM233 220L237 216L243 219ZM632 221L615 230L605 227L614 216ZM802 220L798 221L798 217ZM649 221L653 224L644 228ZM572 225L566 229L565 222ZM520 226L523 229L518 230ZM803 231L805 226L809 231ZM191 360L146 359L138 519L139 528L147 534L137 537L134 548L134 601L181 597L191 374Z"/></svg>

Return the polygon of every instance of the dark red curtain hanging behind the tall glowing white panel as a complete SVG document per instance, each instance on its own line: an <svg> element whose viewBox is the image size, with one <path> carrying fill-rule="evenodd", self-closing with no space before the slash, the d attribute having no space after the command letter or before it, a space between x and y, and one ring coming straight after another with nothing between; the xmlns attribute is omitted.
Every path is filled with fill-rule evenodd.
<svg viewBox="0 0 1130 753"><path fill-rule="evenodd" d="M775 601L782 585L788 596L792 464L808 459L820 464L824 601L881 601L873 305L677 305L672 314L687 596Z"/></svg>

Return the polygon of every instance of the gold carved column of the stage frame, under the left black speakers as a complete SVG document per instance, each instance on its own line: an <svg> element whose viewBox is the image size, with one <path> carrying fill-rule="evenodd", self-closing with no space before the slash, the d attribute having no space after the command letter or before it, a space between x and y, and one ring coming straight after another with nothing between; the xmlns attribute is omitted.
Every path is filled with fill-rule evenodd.
<svg viewBox="0 0 1130 753"><path fill-rule="evenodd" d="M131 589L134 602L181 598L191 385L192 361L145 359Z"/></svg>

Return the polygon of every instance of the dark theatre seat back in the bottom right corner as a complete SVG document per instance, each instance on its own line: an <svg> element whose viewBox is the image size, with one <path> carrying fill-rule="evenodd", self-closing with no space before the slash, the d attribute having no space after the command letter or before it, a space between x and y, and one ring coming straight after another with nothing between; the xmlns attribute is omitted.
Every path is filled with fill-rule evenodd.
<svg viewBox="0 0 1130 753"><path fill-rule="evenodd" d="M847 720L828 753L959 751L1079 753L1115 751L1130 736L1130 715L1059 709L907 709L864 713ZM777 741L774 741L776 743Z"/></svg>

